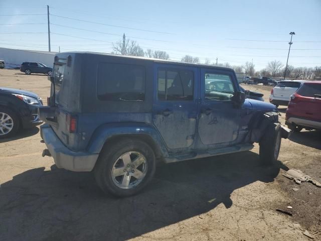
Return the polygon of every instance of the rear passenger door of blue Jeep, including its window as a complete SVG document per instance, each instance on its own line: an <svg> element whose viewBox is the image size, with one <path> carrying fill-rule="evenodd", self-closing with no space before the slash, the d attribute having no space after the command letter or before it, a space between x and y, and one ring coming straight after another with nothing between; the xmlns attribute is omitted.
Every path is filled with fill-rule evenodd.
<svg viewBox="0 0 321 241"><path fill-rule="evenodd" d="M198 109L198 68L155 64L153 124L169 149L193 147Z"/></svg>

